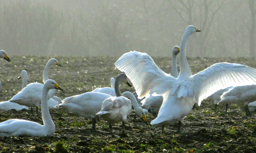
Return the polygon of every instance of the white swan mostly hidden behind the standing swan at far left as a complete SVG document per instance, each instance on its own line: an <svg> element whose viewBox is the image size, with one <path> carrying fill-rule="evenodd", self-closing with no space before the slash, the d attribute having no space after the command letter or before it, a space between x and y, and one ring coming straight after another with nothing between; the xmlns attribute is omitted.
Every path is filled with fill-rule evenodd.
<svg viewBox="0 0 256 153"><path fill-rule="evenodd" d="M27 71L26 70L22 70L22 72L20 72L20 76L18 77L18 79L22 78L22 89L27 85ZM12 103L10 101L2 101L0 102L0 110L1 111L9 111L9 110L16 110L16 111L20 111L23 109L29 110L29 107L27 107L26 105L19 105L17 103Z"/></svg>

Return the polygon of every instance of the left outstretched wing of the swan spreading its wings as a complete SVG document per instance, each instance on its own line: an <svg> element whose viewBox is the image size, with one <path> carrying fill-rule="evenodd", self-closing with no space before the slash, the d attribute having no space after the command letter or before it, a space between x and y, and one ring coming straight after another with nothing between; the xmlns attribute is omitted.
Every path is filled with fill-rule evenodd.
<svg viewBox="0 0 256 153"><path fill-rule="evenodd" d="M172 83L176 81L176 78L163 72L147 53L125 53L116 61L115 66L125 72L139 98L147 94L163 94L170 90Z"/></svg>

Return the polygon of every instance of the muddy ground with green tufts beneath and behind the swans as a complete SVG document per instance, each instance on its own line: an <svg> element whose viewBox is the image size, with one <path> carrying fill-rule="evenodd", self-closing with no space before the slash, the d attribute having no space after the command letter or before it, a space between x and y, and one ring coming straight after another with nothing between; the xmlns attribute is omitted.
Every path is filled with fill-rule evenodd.
<svg viewBox="0 0 256 153"><path fill-rule="evenodd" d="M30 82L42 83L44 65L51 57L10 56L12 62L0 60L2 91L0 101L9 100L22 87L17 77L26 70ZM64 91L56 96L64 99L75 94L110 86L110 78L120 73L113 63L118 57L55 57L63 67L53 65L49 78L54 79ZM155 63L165 72L170 72L170 57L153 57ZM255 59L188 59L193 73L209 65L227 61L256 68ZM122 91L134 91L126 85ZM99 119L97 132L91 132L91 120L71 114L63 109L51 109L56 131L51 137L0 137L0 152L256 152L255 113L247 117L236 105L214 111L214 102L206 99L200 107L195 107L184 121L180 132L177 125L165 128L145 125L140 119L133 120L131 112L126 123L129 137L119 137L119 124L113 126L115 138L109 134L108 123ZM12 118L27 119L42 123L41 116L30 114L29 110L1 111L0 122ZM148 122L152 116L147 116Z"/></svg>

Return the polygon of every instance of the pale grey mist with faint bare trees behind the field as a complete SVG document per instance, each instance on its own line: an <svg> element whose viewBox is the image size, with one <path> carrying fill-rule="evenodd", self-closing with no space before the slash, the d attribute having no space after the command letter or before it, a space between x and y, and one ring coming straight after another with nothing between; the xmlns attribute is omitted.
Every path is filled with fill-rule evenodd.
<svg viewBox="0 0 256 153"><path fill-rule="evenodd" d="M0 0L0 49L19 56L255 57L255 0Z"/></svg>

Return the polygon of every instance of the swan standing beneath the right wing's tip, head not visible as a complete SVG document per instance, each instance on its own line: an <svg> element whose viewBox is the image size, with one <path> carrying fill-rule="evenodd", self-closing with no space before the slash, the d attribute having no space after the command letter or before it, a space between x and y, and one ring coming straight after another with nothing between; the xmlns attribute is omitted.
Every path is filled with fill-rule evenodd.
<svg viewBox="0 0 256 153"><path fill-rule="evenodd" d="M243 105L246 115L250 116L248 104L256 100L256 85L236 86L221 96L218 104L239 104Z"/></svg>

